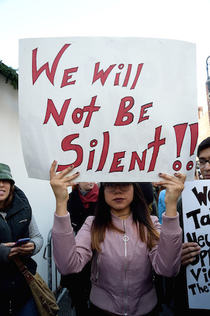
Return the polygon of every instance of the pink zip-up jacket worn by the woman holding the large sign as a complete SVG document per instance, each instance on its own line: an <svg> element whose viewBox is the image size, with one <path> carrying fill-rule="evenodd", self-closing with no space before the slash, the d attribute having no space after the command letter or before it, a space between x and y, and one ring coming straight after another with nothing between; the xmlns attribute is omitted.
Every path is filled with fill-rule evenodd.
<svg viewBox="0 0 210 316"><path fill-rule="evenodd" d="M106 230L102 252L92 252L91 226L94 217L87 217L73 236L69 214L55 214L52 228L53 258L62 275L78 273L92 259L90 301L102 310L116 315L137 316L150 312L157 303L153 285L153 270L172 277L181 265L182 230L179 214L152 217L160 240L149 250L142 242L132 214L125 220L111 214L115 226L125 234Z"/></svg>

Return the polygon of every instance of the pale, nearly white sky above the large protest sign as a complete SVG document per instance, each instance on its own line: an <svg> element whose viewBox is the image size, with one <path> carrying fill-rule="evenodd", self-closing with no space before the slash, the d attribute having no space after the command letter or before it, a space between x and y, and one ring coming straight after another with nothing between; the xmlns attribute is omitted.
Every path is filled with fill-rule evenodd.
<svg viewBox="0 0 210 316"><path fill-rule="evenodd" d="M15 69L23 38L139 36L196 43L198 106L207 111L210 0L0 0L0 12L0 60Z"/></svg>

